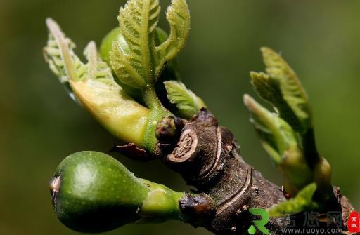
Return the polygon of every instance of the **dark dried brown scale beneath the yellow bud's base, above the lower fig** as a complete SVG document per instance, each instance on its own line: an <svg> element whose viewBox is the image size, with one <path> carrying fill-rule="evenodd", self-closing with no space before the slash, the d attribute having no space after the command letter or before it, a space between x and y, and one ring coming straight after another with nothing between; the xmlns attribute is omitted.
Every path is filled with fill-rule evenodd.
<svg viewBox="0 0 360 235"><path fill-rule="evenodd" d="M154 159L153 156L150 156L145 149L137 147L134 143L129 143L127 145L114 145L110 152L118 152L136 161L150 161Z"/></svg>

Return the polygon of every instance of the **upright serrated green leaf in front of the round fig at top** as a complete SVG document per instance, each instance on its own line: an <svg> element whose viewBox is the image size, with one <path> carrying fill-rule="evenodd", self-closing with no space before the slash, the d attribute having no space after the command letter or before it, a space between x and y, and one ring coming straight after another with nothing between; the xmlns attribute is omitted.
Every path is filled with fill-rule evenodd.
<svg viewBox="0 0 360 235"><path fill-rule="evenodd" d="M155 28L159 13L158 0L129 0L124 8L120 8L117 19L129 53L114 43L110 58L119 79L129 86L143 88L146 83L155 81Z"/></svg>

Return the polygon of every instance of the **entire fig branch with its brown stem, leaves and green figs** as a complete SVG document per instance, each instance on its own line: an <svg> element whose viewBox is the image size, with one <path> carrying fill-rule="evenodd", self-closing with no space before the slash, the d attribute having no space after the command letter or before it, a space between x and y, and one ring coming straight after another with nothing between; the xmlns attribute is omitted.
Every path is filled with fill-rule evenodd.
<svg viewBox="0 0 360 235"><path fill-rule="evenodd" d="M309 98L288 63L264 47L265 72L250 72L257 95L273 109L244 95L260 143L283 177L280 187L243 161L231 131L179 81L177 55L190 29L186 0L167 8L169 34L158 27L160 12L158 0L129 0L100 51L94 41L86 46L87 62L48 18L44 55L70 97L126 143L112 151L145 164L160 160L195 191L139 179L107 154L77 152L60 163L50 184L60 222L82 232L181 220L214 234L283 234L293 226L289 217L302 228L304 215L316 212L319 227L346 234L354 208L331 183ZM340 222L328 217L332 212Z"/></svg>

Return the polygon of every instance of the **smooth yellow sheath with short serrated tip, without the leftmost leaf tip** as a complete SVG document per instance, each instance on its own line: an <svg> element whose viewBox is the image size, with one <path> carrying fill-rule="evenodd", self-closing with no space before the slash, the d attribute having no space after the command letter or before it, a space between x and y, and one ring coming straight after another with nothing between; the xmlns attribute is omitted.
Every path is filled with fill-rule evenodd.
<svg viewBox="0 0 360 235"><path fill-rule="evenodd" d="M98 57L94 43L89 43L85 52L89 60L88 76L82 81L70 81L72 90L110 133L141 146L150 110L124 93L114 81L108 64Z"/></svg>

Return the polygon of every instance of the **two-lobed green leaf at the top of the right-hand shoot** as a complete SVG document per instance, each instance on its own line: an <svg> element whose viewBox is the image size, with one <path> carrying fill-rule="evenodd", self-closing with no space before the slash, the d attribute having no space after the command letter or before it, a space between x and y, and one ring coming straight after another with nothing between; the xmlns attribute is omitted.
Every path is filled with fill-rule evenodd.
<svg viewBox="0 0 360 235"><path fill-rule="evenodd" d="M281 118L290 123L294 130L305 133L312 126L311 110L307 94L297 75L288 63L270 48L262 48L262 55L267 76L252 74L255 90L278 109Z"/></svg>

